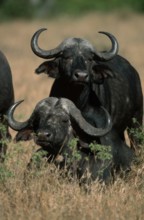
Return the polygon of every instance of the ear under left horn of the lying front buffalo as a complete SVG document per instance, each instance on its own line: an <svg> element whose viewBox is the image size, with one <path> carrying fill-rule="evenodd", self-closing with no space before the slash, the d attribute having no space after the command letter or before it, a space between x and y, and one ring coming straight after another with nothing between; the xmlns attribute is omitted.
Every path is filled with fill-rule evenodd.
<svg viewBox="0 0 144 220"><path fill-rule="evenodd" d="M30 129L24 129L24 130L21 130L19 131L15 138L14 138L14 141L15 142L19 142L19 141L29 141L33 138L33 135L32 135L32 130Z"/></svg>

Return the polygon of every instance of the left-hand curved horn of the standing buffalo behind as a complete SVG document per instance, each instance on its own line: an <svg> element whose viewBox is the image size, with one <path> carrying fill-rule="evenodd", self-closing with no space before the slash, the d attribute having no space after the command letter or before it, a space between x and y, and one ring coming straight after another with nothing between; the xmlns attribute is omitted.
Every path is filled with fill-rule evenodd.
<svg viewBox="0 0 144 220"><path fill-rule="evenodd" d="M63 49L63 43L61 43L58 47L51 50L43 50L38 46L38 38L39 35L47 30L46 28L41 28L38 31L36 31L31 39L31 49L37 56L44 58L44 59L50 59L53 57L56 57L59 53L61 53Z"/></svg>

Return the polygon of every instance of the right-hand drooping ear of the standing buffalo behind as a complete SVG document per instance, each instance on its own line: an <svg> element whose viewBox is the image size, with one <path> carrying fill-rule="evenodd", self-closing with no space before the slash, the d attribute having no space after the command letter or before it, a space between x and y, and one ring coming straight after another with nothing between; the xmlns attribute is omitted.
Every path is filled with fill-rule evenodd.
<svg viewBox="0 0 144 220"><path fill-rule="evenodd" d="M114 72L106 65L96 65L93 67L93 82L102 84L105 79L113 78Z"/></svg>

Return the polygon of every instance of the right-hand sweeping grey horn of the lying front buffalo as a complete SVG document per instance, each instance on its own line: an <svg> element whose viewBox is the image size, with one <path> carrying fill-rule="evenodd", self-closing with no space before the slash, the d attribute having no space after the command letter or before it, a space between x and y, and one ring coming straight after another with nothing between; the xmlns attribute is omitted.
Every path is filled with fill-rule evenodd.
<svg viewBox="0 0 144 220"><path fill-rule="evenodd" d="M84 131L86 134L99 137L107 134L112 128L111 117L108 111L101 107L106 114L107 124L105 128L96 128L89 124L81 115L80 110L68 99L61 98L62 107L66 110L66 112L70 115L70 117L79 125L80 129Z"/></svg>

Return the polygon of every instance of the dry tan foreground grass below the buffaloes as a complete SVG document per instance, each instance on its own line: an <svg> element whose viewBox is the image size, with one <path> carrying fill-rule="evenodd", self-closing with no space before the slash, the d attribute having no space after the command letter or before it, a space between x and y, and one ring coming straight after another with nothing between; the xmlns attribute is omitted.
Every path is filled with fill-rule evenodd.
<svg viewBox="0 0 144 220"><path fill-rule="evenodd" d="M125 179L117 177L109 186L94 182L85 192L76 181L62 178L53 164L42 162L40 169L27 173L27 163L36 149L32 141L9 143L5 162L0 165L1 220L143 219L143 162L133 165Z"/></svg>

